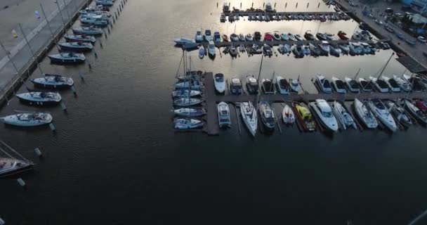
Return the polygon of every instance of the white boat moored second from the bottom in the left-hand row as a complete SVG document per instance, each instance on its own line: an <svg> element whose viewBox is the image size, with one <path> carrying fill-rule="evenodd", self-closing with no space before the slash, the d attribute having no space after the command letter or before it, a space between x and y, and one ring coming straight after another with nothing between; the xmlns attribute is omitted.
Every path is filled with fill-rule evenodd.
<svg viewBox="0 0 427 225"><path fill-rule="evenodd" d="M52 122L52 116L49 113L28 112L0 117L0 120L5 124L18 127L36 127L50 124Z"/></svg>

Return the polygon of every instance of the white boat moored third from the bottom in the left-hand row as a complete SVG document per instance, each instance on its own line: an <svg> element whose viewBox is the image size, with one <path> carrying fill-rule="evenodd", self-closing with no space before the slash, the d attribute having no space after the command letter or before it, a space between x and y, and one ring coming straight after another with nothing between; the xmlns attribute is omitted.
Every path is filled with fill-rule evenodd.
<svg viewBox="0 0 427 225"><path fill-rule="evenodd" d="M29 105L57 105L61 101L61 95L57 92L48 91L29 91L16 94L21 103Z"/></svg>

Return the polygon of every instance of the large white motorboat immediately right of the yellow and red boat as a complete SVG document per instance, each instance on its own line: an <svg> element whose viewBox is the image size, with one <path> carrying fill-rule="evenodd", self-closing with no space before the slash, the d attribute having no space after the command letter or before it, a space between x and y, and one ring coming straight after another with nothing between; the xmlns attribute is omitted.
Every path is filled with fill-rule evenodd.
<svg viewBox="0 0 427 225"><path fill-rule="evenodd" d="M315 112L320 124L329 131L338 131L338 122L332 113L331 106L324 99L316 99L315 102L308 103L310 108Z"/></svg>

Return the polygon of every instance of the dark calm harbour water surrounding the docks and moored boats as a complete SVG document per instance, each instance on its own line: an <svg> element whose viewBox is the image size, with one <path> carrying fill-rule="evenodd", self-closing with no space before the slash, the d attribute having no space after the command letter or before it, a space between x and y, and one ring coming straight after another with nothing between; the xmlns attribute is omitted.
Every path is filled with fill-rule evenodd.
<svg viewBox="0 0 427 225"><path fill-rule="evenodd" d="M298 9L315 11L317 1L310 3ZM251 139L244 129L239 134L232 111L233 127L220 136L174 134L170 91L181 52L172 40L193 37L198 27L231 34L235 24L219 23L220 9L216 1L129 0L111 34L103 37L103 49L96 45L98 58L87 55L93 70L42 63L45 72L74 77L78 96L61 92L68 114L48 108L55 135L48 128L1 127L1 139L37 162L33 172L20 175L27 190L14 179L0 180L0 216L7 224L345 224L348 219L407 224L426 210L422 127L393 135L345 131L333 137L282 127L283 134ZM321 4L321 10L331 9ZM303 32L314 32L318 23L241 21L236 30L298 33L301 26ZM327 22L320 31L352 33L356 26ZM263 77L273 71L285 77L301 74L304 87L313 92L310 79L317 72L344 77L361 68L360 76L366 77L380 70L391 53L273 57L264 60ZM257 74L261 60L191 55L194 68L228 77ZM404 70L391 60L385 74ZM85 73L84 82L79 71ZM1 115L15 109L32 108L14 98ZM37 146L43 160L33 153Z"/></svg>

